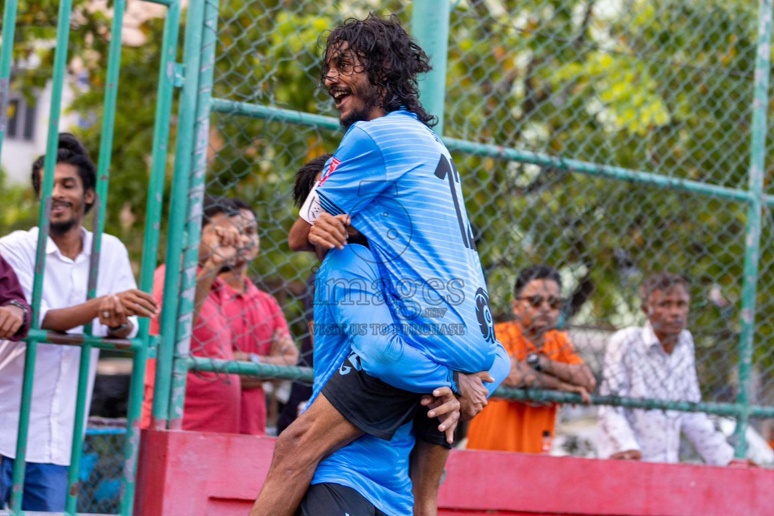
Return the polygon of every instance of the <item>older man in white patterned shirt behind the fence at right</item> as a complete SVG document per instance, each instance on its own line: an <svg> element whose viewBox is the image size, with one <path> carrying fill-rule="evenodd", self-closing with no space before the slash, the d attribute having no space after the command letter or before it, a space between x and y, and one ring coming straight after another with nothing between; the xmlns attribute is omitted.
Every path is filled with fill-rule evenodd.
<svg viewBox="0 0 774 516"><path fill-rule="evenodd" d="M658 273L640 291L645 327L611 337L604 356L601 395L700 402L694 339L686 330L690 296L678 275ZM599 423L611 459L678 462L683 432L707 464L725 466L734 449L704 412L602 406Z"/></svg>

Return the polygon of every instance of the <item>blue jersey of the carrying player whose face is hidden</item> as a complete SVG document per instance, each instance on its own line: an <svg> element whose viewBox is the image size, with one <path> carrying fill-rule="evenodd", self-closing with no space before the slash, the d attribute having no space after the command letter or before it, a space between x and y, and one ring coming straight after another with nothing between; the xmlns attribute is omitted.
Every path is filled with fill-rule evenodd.
<svg viewBox="0 0 774 516"><path fill-rule="evenodd" d="M368 248L351 244L328 251L315 275L314 388L307 406L339 367L363 367L394 387L414 392L454 388L449 367L409 346L396 331L375 261ZM349 360L353 351L359 361ZM487 384L490 394L508 376L510 366L505 348L498 345L490 370L495 383ZM385 514L412 516L409 454L414 441L412 423L402 425L389 441L361 436L321 461L312 484L351 487Z"/></svg>

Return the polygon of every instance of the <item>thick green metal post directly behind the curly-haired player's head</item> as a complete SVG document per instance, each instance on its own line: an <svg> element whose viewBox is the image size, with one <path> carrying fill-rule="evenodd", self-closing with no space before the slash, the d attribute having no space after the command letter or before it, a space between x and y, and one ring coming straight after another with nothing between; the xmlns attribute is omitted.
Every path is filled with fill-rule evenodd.
<svg viewBox="0 0 774 516"><path fill-rule="evenodd" d="M444 134L446 98L446 61L449 51L449 0L414 0L411 34L430 56L433 70L420 80L420 101L425 110L438 117L433 128Z"/></svg>

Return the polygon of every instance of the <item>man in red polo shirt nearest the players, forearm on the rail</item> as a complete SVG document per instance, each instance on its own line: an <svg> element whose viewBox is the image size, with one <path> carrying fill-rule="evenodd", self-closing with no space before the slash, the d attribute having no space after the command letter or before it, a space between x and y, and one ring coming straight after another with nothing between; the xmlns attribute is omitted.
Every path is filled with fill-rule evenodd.
<svg viewBox="0 0 774 516"><path fill-rule="evenodd" d="M295 365L298 348L290 337L288 323L276 299L259 290L247 276L250 262L258 255L258 227L255 213L238 198L227 199L239 216L232 216L239 233L248 242L239 250L236 261L229 262L218 275L223 283L223 314L229 321L234 339L234 357L257 364ZM241 418L239 432L262 436L266 432L266 395L264 380L241 377Z"/></svg>

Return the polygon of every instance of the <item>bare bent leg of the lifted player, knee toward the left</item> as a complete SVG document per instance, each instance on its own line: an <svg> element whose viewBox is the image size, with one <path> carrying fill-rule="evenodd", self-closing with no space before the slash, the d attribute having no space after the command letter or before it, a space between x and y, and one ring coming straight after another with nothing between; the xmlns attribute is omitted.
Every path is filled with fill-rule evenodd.
<svg viewBox="0 0 774 516"><path fill-rule="evenodd" d="M320 460L363 435L320 394L277 437L272 465L250 516L293 516Z"/></svg>

